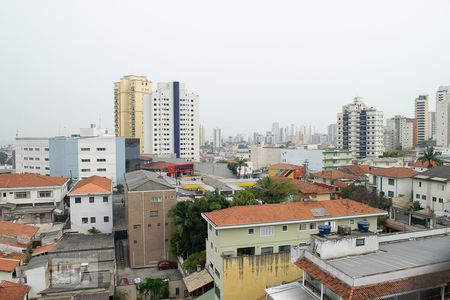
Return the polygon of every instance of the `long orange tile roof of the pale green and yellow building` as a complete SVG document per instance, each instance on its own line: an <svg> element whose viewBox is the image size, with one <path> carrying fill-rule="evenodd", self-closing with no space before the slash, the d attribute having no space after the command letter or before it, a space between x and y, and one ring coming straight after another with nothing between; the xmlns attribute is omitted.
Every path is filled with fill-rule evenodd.
<svg viewBox="0 0 450 300"><path fill-rule="evenodd" d="M324 217L314 216L311 212L313 208L323 208L328 215ZM341 199L234 206L205 213L204 216L216 226L221 227L370 214L384 215L387 213L354 200Z"/></svg>

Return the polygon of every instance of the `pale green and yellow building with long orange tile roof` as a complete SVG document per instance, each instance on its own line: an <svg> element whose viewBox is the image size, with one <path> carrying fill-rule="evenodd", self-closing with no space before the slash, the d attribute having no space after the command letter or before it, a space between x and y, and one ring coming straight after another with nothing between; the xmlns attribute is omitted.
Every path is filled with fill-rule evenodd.
<svg viewBox="0 0 450 300"><path fill-rule="evenodd" d="M269 285L300 280L290 262L293 246L326 224L356 228L387 212L353 200L235 206L202 214L208 223L206 267L214 277L216 299L260 299Z"/></svg>

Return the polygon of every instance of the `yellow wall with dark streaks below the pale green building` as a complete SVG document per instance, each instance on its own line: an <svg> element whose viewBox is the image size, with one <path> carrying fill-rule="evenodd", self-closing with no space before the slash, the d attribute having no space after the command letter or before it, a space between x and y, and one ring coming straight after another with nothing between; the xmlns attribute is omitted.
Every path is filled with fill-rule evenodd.
<svg viewBox="0 0 450 300"><path fill-rule="evenodd" d="M291 263L289 253L225 258L223 264L222 299L264 299L268 285L301 278L301 270Z"/></svg>

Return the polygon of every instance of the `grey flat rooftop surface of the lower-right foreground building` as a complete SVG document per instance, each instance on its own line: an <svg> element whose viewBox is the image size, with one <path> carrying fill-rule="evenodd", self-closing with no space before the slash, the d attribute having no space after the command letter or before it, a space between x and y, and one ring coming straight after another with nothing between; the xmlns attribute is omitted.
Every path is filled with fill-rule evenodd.
<svg viewBox="0 0 450 300"><path fill-rule="evenodd" d="M450 236L380 244L379 251L326 260L352 278L450 262Z"/></svg>

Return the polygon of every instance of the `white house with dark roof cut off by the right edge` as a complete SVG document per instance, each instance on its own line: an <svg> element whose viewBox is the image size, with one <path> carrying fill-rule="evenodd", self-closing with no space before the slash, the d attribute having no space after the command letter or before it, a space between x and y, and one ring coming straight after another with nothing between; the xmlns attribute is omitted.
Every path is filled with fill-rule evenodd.
<svg viewBox="0 0 450 300"><path fill-rule="evenodd" d="M450 213L450 166L437 166L414 176L413 201L439 217Z"/></svg>

